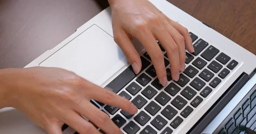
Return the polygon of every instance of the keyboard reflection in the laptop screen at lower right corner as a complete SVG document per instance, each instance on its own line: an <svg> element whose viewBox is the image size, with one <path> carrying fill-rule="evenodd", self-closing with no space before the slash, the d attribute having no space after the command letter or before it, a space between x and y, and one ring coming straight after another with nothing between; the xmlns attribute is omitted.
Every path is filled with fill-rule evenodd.
<svg viewBox="0 0 256 134"><path fill-rule="evenodd" d="M256 131L256 85L223 120L214 134L245 134L245 128Z"/></svg>

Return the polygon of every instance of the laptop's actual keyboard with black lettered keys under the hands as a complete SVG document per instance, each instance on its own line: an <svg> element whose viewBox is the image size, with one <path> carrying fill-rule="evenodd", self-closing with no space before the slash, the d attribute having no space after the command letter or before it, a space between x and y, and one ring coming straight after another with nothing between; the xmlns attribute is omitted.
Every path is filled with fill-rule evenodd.
<svg viewBox="0 0 256 134"><path fill-rule="evenodd" d="M142 69L138 75L129 66L106 86L134 103L139 109L137 114L131 115L114 106L97 102L98 105L94 100L93 105L98 108L102 106L101 109L111 115L113 122L124 134L175 132L238 65L236 60L209 45L204 39L192 32L189 34L194 42L195 53L186 52L186 69L180 73L179 81L172 80L168 56L160 46L165 56L169 81L166 87L158 81L147 52L140 57Z"/></svg>

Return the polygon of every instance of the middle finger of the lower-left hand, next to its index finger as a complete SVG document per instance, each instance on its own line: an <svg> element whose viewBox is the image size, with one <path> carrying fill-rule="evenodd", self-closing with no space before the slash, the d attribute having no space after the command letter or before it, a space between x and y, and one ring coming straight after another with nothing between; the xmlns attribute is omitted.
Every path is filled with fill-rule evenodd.
<svg viewBox="0 0 256 134"><path fill-rule="evenodd" d="M105 133L122 134L122 131L115 125L115 123L113 123L111 118L105 112L102 112L87 100L84 100L77 110L77 112L84 115Z"/></svg>

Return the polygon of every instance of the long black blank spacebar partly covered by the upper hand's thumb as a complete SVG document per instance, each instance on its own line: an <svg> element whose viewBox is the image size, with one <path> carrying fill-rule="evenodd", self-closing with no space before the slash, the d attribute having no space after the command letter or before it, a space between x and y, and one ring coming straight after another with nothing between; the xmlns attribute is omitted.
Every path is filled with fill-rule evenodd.
<svg viewBox="0 0 256 134"><path fill-rule="evenodd" d="M141 71L143 71L150 62L143 57L140 57L142 62ZM136 77L131 65L113 79L106 87L113 89L113 92L118 93L123 87L125 87L132 79Z"/></svg>

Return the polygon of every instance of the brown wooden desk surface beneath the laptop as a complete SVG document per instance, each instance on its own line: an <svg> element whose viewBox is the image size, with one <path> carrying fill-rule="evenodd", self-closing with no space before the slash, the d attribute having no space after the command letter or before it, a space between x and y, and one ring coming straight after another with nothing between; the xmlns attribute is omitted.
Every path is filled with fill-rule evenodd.
<svg viewBox="0 0 256 134"><path fill-rule="evenodd" d="M256 0L168 1L256 54ZM24 67L107 6L107 0L0 0L0 68Z"/></svg>

